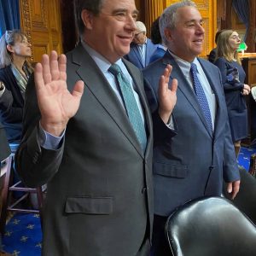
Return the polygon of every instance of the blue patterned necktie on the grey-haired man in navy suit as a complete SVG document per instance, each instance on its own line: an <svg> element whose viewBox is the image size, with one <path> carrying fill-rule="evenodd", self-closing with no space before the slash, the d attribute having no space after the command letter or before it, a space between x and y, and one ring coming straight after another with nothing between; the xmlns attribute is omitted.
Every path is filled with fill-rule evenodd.
<svg viewBox="0 0 256 256"><path fill-rule="evenodd" d="M204 113L205 119L207 120L207 125L209 126L210 130L212 131L211 112L210 112L209 104L207 102L207 96L205 95L205 92L202 88L201 82L197 77L197 67L196 67L195 63L191 63L190 72L192 74L192 79L194 82L195 95L196 95L197 100L201 106L203 113Z"/></svg>

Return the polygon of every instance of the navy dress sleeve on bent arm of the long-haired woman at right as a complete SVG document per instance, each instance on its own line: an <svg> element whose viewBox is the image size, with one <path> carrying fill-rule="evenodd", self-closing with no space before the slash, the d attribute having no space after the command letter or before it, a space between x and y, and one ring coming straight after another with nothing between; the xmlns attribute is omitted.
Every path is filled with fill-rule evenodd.
<svg viewBox="0 0 256 256"><path fill-rule="evenodd" d="M225 91L229 90L242 90L244 87L244 84L242 83L230 83L227 79L228 75L228 65L224 58L218 58L217 61L214 62L214 65L216 65L221 73L221 79L222 84L224 86Z"/></svg>

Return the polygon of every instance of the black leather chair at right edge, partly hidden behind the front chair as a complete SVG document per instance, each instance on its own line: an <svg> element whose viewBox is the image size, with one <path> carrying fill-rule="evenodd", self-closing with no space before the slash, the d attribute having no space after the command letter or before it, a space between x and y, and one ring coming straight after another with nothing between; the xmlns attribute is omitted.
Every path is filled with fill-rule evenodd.
<svg viewBox="0 0 256 256"><path fill-rule="evenodd" d="M233 203L256 224L256 178L243 167L239 167L239 172L241 177L240 190ZM226 198L230 199L227 189L224 189L223 193Z"/></svg>

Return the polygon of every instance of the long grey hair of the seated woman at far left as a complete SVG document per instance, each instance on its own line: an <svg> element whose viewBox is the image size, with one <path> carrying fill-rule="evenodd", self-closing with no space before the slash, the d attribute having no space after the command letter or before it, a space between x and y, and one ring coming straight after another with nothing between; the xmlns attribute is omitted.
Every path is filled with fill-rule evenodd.
<svg viewBox="0 0 256 256"><path fill-rule="evenodd" d="M20 30L7 30L0 39L0 68L7 67L12 63L11 52L7 49L7 45L15 45L16 42L22 42L26 35Z"/></svg>

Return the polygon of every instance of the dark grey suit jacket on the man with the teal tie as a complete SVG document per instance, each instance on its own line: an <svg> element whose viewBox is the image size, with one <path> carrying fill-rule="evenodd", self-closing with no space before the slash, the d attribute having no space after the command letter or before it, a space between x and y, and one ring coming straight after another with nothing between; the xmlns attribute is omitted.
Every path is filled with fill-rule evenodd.
<svg viewBox="0 0 256 256"><path fill-rule="evenodd" d="M124 60L125 61L125 60ZM48 184L43 255L136 255L153 218L152 121L142 73L125 61L137 86L148 134L145 154L124 108L81 44L67 53L67 86L84 81L78 113L58 150L38 143L39 111L26 89L17 169L30 187Z"/></svg>

